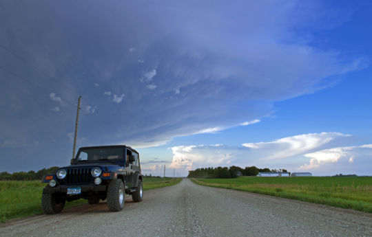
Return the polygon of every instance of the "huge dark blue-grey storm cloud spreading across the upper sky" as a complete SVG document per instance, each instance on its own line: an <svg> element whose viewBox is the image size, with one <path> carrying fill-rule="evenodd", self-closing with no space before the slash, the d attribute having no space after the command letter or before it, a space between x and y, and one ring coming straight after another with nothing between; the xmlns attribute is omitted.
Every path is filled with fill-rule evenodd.
<svg viewBox="0 0 372 237"><path fill-rule="evenodd" d="M141 147L236 126L271 113L273 101L327 87L364 67L301 37L326 17L322 29L347 19L327 13L296 1L3 2L0 45L21 58L0 48L2 143L30 150L3 169L34 166L34 157L65 163L79 94L79 137Z"/></svg>

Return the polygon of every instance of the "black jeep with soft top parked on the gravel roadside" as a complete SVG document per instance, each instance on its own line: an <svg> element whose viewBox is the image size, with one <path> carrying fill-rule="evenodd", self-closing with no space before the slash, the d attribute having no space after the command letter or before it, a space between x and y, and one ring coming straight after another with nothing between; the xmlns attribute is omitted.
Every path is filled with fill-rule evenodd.
<svg viewBox="0 0 372 237"><path fill-rule="evenodd" d="M142 174L139 155L130 146L90 146L79 149L71 166L45 175L41 206L45 214L63 210L66 201L87 199L99 203L107 199L110 211L123 209L125 193L142 201Z"/></svg>

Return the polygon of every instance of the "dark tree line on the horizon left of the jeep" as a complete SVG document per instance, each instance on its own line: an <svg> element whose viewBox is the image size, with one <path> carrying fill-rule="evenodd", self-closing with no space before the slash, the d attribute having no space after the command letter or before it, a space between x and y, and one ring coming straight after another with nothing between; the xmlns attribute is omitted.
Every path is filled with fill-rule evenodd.
<svg viewBox="0 0 372 237"><path fill-rule="evenodd" d="M12 174L0 172L0 180L41 180L45 174L53 174L58 169L59 167L53 166L50 168L43 168L37 172L34 172L34 170L30 170L29 172L14 172Z"/></svg>

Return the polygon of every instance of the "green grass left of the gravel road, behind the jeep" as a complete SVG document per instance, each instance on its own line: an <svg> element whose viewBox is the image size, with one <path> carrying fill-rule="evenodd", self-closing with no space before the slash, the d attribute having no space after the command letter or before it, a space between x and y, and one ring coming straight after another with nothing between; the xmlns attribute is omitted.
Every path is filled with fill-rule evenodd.
<svg viewBox="0 0 372 237"><path fill-rule="evenodd" d="M152 190L179 183L181 179L143 178L143 190ZM0 222L11 218L43 213L41 193L45 183L41 181L0 181ZM65 207L85 204L85 199L67 202Z"/></svg>

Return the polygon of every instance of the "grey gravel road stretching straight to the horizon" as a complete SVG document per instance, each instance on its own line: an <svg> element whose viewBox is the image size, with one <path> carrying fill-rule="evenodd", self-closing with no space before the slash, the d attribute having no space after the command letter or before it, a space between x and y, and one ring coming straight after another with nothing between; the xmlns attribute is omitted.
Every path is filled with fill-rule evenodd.
<svg viewBox="0 0 372 237"><path fill-rule="evenodd" d="M125 199L0 225L0 236L372 236L372 214L200 186L183 179Z"/></svg>

